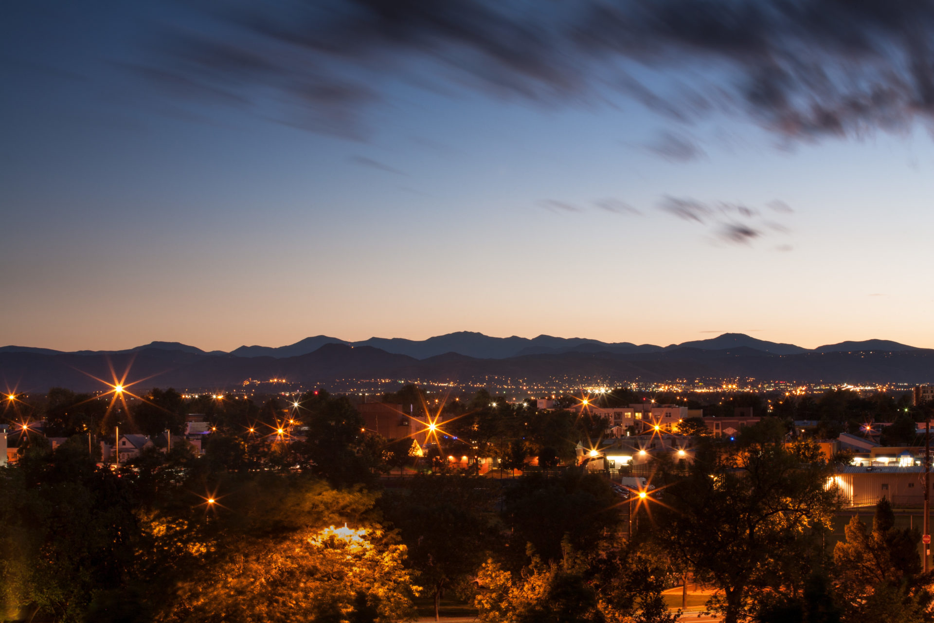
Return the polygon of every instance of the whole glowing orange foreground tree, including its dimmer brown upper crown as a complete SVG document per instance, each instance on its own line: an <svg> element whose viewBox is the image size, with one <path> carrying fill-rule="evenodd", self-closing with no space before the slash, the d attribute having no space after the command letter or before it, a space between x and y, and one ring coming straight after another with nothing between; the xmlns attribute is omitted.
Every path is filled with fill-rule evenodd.
<svg viewBox="0 0 934 623"><path fill-rule="evenodd" d="M375 494L302 475L233 477L219 485L224 506L202 505L200 521L153 517L150 539L163 546L149 570L158 576L160 558L196 552L168 573L172 582L154 582L168 591L153 599L157 621L389 623L414 615L406 548L374 520Z"/></svg>

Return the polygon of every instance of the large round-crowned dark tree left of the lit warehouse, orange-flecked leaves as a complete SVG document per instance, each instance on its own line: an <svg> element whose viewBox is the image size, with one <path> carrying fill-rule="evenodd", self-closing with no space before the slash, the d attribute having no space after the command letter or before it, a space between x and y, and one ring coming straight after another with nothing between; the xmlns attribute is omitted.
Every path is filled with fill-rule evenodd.
<svg viewBox="0 0 934 623"><path fill-rule="evenodd" d="M753 432L749 439L760 436L770 437ZM736 623L762 592L800 586L801 560L808 559L802 537L835 507L827 477L825 463L802 465L773 441L727 455L703 448L688 477L666 489L671 510L658 508L658 538L723 590L708 603Z"/></svg>

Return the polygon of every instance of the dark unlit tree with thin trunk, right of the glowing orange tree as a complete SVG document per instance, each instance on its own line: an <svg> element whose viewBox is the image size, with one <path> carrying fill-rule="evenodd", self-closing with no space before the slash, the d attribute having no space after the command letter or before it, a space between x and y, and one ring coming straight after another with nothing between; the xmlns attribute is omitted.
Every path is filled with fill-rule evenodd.
<svg viewBox="0 0 934 623"><path fill-rule="evenodd" d="M489 486L476 476L418 475L407 495L386 499L387 517L434 598L435 619L446 588L469 578L495 542Z"/></svg>

